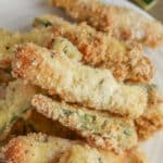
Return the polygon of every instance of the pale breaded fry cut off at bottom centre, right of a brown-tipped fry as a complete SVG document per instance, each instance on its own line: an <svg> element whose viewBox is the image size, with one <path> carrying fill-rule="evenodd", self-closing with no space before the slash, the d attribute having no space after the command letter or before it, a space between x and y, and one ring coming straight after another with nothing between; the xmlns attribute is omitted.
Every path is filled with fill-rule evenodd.
<svg viewBox="0 0 163 163"><path fill-rule="evenodd" d="M124 163L125 156L97 150L87 145L74 145L61 155L58 163Z"/></svg>

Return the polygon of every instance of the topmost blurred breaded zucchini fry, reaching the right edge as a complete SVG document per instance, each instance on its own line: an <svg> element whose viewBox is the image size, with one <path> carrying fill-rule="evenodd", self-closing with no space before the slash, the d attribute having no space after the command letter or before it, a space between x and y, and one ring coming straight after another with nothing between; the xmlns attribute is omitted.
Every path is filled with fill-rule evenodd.
<svg viewBox="0 0 163 163"><path fill-rule="evenodd" d="M163 26L127 8L103 4L100 0L51 0L78 22L87 22L98 30L116 38L138 41L150 47L163 45Z"/></svg>

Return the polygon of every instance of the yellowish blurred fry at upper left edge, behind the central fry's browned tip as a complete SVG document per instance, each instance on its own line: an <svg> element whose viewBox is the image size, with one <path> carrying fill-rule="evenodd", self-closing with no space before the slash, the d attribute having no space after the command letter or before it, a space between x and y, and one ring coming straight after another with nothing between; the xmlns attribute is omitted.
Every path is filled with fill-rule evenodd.
<svg viewBox="0 0 163 163"><path fill-rule="evenodd" d="M0 68L10 68L16 45L34 42L45 46L50 35L47 29L33 29L24 34L0 29Z"/></svg>

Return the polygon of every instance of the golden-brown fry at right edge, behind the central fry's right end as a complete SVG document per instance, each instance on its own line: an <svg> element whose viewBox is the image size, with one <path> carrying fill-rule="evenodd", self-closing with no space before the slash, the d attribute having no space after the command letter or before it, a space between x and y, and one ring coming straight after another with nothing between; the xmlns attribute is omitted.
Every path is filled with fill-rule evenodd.
<svg viewBox="0 0 163 163"><path fill-rule="evenodd" d="M140 140L145 140L163 129L163 96L152 86L148 86L148 108L136 120L137 133Z"/></svg>

